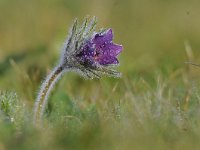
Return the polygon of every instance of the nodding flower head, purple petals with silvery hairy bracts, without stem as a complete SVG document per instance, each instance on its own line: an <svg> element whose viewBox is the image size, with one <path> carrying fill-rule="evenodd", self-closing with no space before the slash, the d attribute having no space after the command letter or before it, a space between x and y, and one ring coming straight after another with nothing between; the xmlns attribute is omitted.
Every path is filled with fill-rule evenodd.
<svg viewBox="0 0 200 150"><path fill-rule="evenodd" d="M119 77L113 67L119 64L117 55L122 46L113 43L112 29L95 31L96 18L86 18L82 25L74 21L61 56L61 67L75 70L87 78L107 74Z"/></svg>

